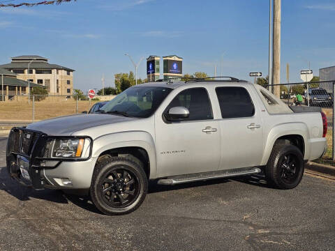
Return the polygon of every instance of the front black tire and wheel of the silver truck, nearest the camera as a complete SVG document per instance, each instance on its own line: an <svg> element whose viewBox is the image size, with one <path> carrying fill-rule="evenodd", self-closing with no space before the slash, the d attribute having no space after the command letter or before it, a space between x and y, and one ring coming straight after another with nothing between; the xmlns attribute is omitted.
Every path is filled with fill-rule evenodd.
<svg viewBox="0 0 335 251"><path fill-rule="evenodd" d="M148 179L142 163L132 155L102 158L92 176L90 195L99 211L123 215L135 211L144 201Z"/></svg>

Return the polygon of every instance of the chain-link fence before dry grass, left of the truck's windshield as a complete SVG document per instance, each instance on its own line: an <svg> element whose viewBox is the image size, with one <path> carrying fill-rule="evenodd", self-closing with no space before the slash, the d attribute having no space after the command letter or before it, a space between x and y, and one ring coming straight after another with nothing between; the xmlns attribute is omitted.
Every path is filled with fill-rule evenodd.
<svg viewBox="0 0 335 251"><path fill-rule="evenodd" d="M31 123L56 116L89 112L97 102L107 102L114 96L89 99L78 96L27 95L5 96L0 103L0 123ZM83 100L84 99L84 100Z"/></svg>

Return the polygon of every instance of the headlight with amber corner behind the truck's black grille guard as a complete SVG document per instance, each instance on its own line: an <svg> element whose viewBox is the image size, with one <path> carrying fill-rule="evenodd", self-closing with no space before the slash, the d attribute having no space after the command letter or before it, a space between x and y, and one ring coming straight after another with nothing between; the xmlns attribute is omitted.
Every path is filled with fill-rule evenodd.
<svg viewBox="0 0 335 251"><path fill-rule="evenodd" d="M55 139L52 148L53 158L80 158L84 149L85 139Z"/></svg>

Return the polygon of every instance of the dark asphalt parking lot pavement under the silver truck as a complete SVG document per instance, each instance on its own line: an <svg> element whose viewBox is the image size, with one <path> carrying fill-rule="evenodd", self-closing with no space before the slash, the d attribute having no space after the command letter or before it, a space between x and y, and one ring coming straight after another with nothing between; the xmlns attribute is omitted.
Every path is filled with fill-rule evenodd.
<svg viewBox="0 0 335 251"><path fill-rule="evenodd" d="M294 190L260 177L165 187L109 217L87 198L10 180L0 137L0 250L334 250L335 183L305 174Z"/></svg>

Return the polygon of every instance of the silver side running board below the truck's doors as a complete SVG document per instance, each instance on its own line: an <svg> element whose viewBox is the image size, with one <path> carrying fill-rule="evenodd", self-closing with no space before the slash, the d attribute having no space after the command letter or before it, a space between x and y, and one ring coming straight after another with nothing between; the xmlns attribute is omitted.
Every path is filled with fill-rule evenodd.
<svg viewBox="0 0 335 251"><path fill-rule="evenodd" d="M262 170L258 167L248 167L239 169L228 169L214 172L203 172L199 174L185 174L178 176L170 176L158 180L159 185L176 185L193 181L206 181L214 178L226 178L233 176L242 176L250 174L259 174Z"/></svg>

